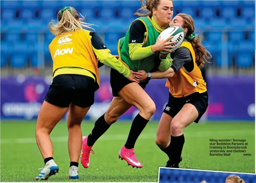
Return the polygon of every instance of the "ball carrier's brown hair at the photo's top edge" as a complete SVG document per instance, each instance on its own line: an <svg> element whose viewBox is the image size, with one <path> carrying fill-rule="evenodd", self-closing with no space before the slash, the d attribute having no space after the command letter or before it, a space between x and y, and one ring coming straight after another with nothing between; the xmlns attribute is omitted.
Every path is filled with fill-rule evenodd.
<svg viewBox="0 0 256 183"><path fill-rule="evenodd" d="M140 0L142 2L142 6L137 10L135 15L140 17L147 17L153 15L153 8L157 8L159 6L161 0L146 0L146 4L144 4L144 0ZM173 3L173 0L170 0ZM144 13L142 13L144 11Z"/></svg>

